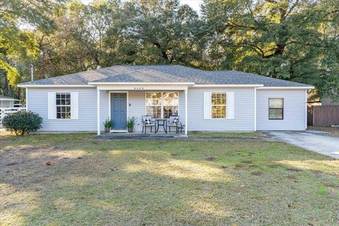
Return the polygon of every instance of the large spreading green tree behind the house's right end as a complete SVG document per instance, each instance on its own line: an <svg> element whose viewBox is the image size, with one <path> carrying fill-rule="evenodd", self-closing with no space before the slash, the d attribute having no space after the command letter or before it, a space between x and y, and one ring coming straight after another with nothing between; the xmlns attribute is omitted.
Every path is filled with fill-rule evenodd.
<svg viewBox="0 0 339 226"><path fill-rule="evenodd" d="M338 0L206 0L210 63L313 84L329 95L324 84L338 87L338 5Z"/></svg>

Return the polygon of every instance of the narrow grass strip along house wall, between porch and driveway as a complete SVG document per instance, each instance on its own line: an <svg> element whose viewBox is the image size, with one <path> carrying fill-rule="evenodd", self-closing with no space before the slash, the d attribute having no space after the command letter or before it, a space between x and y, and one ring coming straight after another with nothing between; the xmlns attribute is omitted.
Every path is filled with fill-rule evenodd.
<svg viewBox="0 0 339 226"><path fill-rule="evenodd" d="M191 138L266 138L268 136L263 135L263 133L258 132L215 132L215 133L207 133L207 132L190 132L189 137Z"/></svg>

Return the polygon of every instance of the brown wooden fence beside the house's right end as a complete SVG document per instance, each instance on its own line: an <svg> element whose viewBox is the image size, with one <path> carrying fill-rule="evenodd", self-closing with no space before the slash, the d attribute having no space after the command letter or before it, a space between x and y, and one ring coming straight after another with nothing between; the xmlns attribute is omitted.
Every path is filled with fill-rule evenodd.
<svg viewBox="0 0 339 226"><path fill-rule="evenodd" d="M331 126L339 124L339 106L311 106L307 109L307 124Z"/></svg>

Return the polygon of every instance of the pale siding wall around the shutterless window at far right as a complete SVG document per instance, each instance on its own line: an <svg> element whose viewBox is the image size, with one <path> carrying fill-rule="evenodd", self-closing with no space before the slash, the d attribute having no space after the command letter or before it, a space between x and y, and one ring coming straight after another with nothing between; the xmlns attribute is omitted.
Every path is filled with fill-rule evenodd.
<svg viewBox="0 0 339 226"><path fill-rule="evenodd" d="M257 90L256 126L258 130L304 130L305 90ZM283 119L268 119L268 99L283 98Z"/></svg>

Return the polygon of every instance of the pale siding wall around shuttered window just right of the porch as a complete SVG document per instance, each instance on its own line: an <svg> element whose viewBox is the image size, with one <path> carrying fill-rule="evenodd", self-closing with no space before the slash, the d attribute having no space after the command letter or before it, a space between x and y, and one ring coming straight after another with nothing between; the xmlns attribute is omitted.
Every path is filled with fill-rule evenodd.
<svg viewBox="0 0 339 226"><path fill-rule="evenodd" d="M227 119L211 119L213 92L226 93ZM254 88L189 88L188 105L189 131L254 131Z"/></svg>

